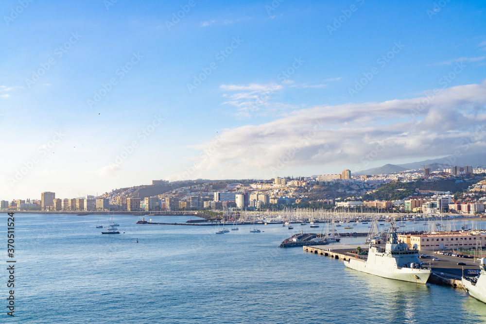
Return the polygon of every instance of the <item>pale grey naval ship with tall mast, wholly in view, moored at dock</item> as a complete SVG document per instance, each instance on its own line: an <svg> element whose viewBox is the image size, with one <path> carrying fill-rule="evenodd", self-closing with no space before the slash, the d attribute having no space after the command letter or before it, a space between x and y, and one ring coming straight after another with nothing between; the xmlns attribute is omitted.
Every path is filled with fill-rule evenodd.
<svg viewBox="0 0 486 324"><path fill-rule="evenodd" d="M429 268L420 268L418 250L410 249L406 243L397 240L395 221L390 223L384 249L370 244L366 261L351 258L344 264L348 268L383 278L421 284L425 284L431 274Z"/></svg>

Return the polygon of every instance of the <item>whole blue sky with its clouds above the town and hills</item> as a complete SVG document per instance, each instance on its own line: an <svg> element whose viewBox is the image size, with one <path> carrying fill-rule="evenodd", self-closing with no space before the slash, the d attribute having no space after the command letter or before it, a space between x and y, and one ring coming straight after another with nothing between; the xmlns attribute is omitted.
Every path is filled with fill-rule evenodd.
<svg viewBox="0 0 486 324"><path fill-rule="evenodd" d="M2 1L0 199L485 150L484 1L161 2Z"/></svg>

